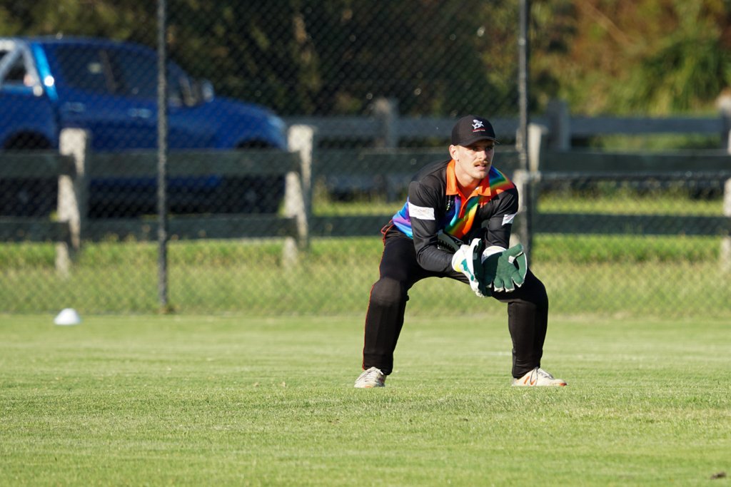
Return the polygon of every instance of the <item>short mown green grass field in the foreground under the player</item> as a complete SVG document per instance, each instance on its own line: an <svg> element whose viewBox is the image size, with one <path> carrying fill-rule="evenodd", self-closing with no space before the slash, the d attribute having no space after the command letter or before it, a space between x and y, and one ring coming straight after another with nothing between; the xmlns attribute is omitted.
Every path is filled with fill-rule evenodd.
<svg viewBox="0 0 731 487"><path fill-rule="evenodd" d="M554 316L526 390L504 310L409 315L356 390L360 318L52 318L0 315L2 485L730 483L728 321Z"/></svg>

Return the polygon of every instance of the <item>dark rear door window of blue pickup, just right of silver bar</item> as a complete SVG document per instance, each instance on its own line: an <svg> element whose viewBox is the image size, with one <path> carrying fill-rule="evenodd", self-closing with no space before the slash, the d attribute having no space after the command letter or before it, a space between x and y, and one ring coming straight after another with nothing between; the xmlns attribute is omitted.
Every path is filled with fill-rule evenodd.
<svg viewBox="0 0 731 487"><path fill-rule="evenodd" d="M69 86L93 93L114 93L115 85L105 53L95 47L59 46L61 72Z"/></svg>

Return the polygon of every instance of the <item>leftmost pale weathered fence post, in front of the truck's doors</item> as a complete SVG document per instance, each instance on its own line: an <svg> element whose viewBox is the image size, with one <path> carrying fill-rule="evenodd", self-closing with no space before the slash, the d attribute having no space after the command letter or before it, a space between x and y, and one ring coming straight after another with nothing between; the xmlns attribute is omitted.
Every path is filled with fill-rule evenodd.
<svg viewBox="0 0 731 487"><path fill-rule="evenodd" d="M71 264L81 249L86 215L88 213L86 164L88 164L90 135L82 129L63 129L58 142L58 152L71 156L73 175L58 176L58 221L69 225L67 242L56 243L56 272L69 277Z"/></svg>

